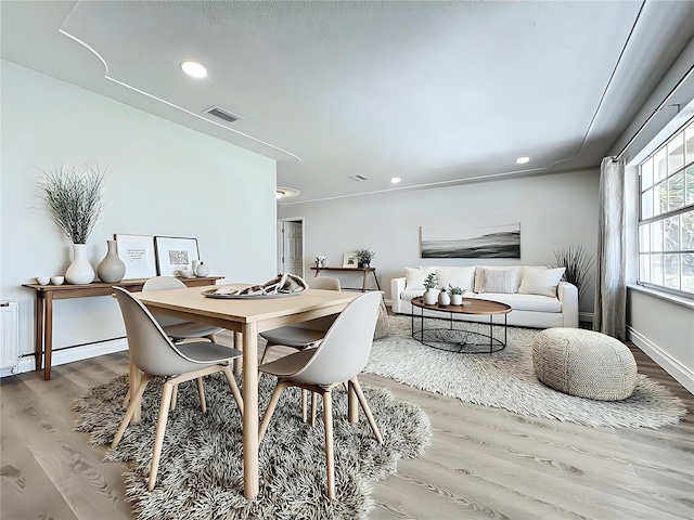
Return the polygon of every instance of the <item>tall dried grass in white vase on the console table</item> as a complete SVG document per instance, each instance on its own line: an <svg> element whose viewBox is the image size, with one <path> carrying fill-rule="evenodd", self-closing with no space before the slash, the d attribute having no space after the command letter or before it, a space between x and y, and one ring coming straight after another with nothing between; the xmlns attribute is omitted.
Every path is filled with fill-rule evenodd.
<svg viewBox="0 0 694 520"><path fill-rule="evenodd" d="M103 212L103 191L108 170L87 165L83 171L61 166L43 171L38 188L50 210L53 222L73 242L73 262L65 280L68 284L90 284L94 268L87 258L87 239Z"/></svg>

